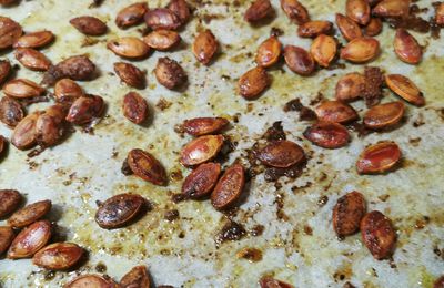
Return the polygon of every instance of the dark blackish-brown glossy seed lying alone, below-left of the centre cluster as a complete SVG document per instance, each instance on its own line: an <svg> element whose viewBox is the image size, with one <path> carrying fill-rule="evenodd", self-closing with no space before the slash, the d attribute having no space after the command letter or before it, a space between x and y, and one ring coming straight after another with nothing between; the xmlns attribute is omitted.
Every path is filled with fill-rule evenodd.
<svg viewBox="0 0 444 288"><path fill-rule="evenodd" d="M95 213L95 222L104 229L127 226L142 210L145 199L138 194L119 194L107 199Z"/></svg>

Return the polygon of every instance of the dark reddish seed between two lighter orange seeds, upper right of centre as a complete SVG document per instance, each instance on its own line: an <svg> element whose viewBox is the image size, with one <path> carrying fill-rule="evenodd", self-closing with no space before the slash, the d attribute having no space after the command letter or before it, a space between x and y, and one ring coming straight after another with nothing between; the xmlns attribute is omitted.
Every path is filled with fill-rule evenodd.
<svg viewBox="0 0 444 288"><path fill-rule="evenodd" d="M284 49L285 63L291 71L303 76L313 74L315 62L312 55L303 48L286 45Z"/></svg>

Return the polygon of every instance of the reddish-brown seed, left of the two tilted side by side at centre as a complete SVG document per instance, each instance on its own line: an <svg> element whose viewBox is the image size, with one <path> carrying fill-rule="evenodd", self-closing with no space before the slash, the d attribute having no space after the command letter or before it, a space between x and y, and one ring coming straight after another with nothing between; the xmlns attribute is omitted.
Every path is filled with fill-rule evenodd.
<svg viewBox="0 0 444 288"><path fill-rule="evenodd" d="M182 194L190 198L201 198L209 195L214 188L220 174L221 164L219 163L199 165L183 182Z"/></svg>

